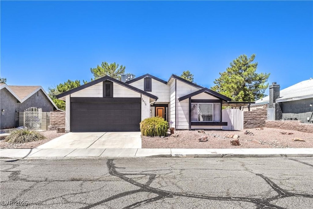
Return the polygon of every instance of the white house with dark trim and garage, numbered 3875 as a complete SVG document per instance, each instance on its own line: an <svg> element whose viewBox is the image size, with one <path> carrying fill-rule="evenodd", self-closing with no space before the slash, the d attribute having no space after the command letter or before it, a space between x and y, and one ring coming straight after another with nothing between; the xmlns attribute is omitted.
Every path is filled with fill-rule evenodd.
<svg viewBox="0 0 313 209"><path fill-rule="evenodd" d="M161 116L176 129L222 129L230 98L176 75L145 74L127 82L109 76L57 95L66 102L66 131L140 131L145 118Z"/></svg>

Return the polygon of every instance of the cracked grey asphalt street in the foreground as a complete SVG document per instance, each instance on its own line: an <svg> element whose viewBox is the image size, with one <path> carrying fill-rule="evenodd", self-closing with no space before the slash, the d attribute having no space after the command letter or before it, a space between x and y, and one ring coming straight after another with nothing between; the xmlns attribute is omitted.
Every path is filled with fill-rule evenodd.
<svg viewBox="0 0 313 209"><path fill-rule="evenodd" d="M305 209L313 205L312 158L2 159L0 163L1 208Z"/></svg>

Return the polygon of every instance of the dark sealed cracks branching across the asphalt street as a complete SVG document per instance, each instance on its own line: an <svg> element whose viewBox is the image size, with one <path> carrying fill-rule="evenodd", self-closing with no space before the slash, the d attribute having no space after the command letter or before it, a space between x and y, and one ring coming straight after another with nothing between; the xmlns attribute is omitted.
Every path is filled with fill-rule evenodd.
<svg viewBox="0 0 313 209"><path fill-rule="evenodd" d="M146 204L155 202L155 201L162 201L165 200L166 198L173 198L174 196L177 197L188 197L188 198L194 198L194 199L199 199L199 200L215 200L215 201L239 201L239 202L249 202L249 203L253 203L256 206L256 209L285 209L285 207L281 207L281 206L277 206L273 203L271 203L271 201L274 200L279 200L282 198L287 198L287 197L305 197L305 198L313 198L313 195L309 195L309 194L300 194L300 193L295 193L295 192L289 192L287 190L282 189L280 186L278 186L277 184L275 184L272 180L269 179L269 177L264 176L263 174L255 174L253 173L251 170L249 170L244 163L241 162L241 166L243 166L246 171L249 171L250 173L255 174L256 176L262 178L265 183L267 185L270 186L270 188L272 190L274 190L277 195L272 196L272 197L268 197L268 198L254 198L254 197L240 197L240 196L206 196L206 195L197 195L197 194L190 194L190 193L186 193L186 192L173 192L173 191L167 191L167 190L162 190L162 189L158 189L155 187L151 187L151 183L153 183L154 180L156 179L162 179L162 178L157 178L157 174L153 173L153 172L157 172L160 170L149 170L149 173L143 173L143 172L147 172L147 171L141 171L141 172L134 172L134 171L124 171L124 173L117 171L117 169L120 170L126 170L125 167L117 167L115 166L114 163L115 159L108 159L106 162L106 166L109 170L109 175L108 174L104 174L102 176L98 176L96 179L92 179L92 180L86 180L86 179L67 179L67 180L48 180L48 178L44 178L42 180L29 180L26 178L23 178L22 174L21 174L21 170L11 170L11 169L18 169L18 167L21 165L16 165L13 164L11 167L2 170L1 172L9 172L9 176L8 179L10 181L24 181L24 182L32 182L34 183L33 185L29 186L28 188L24 189L23 191L19 192L18 195L16 195L15 197L13 197L12 201L18 200L18 197L24 195L26 192L34 189L34 187L38 186L39 184L44 184L44 185L39 185L40 187L46 186L52 182L73 182L73 181L81 181L80 183L80 192L74 192L74 193L68 193L68 194L64 194L64 195L59 195L59 196L55 196L55 197L51 197L48 199L45 199L43 201L39 201L39 202L35 202L35 203L29 203L28 205L34 205L34 206L40 206L40 205L44 205L44 206L51 206L51 205L57 205L60 203L51 203L51 204L47 204L48 201L53 201L57 198L62 198L64 201L64 204L68 203L68 204L73 204L73 203L79 203L82 205L85 205L83 207L80 207L80 209L89 209L89 208L93 208L95 206L98 206L100 204L104 204L106 202L121 198L121 197L126 197L129 195L133 195L136 193L140 193L140 192L148 192L149 194L154 194L156 196L152 197L152 198L148 198L142 201L137 201L131 205L125 206L124 208L136 208L138 206L144 206ZM294 159L291 159L294 160ZM303 163L305 165L309 165L312 166L309 163L305 163L299 160L294 160L297 161L299 163ZM23 163L22 163L23 164ZM101 164L103 165L103 164ZM41 165L38 165L41 166ZM36 166L36 167L38 167ZM170 166L171 169L161 169L161 170L170 170L167 174L173 174L175 173L175 176L179 176L182 175L182 170L189 170L189 169L179 169L179 171L171 171L173 168L172 166ZM192 170L192 169L191 169ZM197 169L195 169L197 170ZM126 172L126 173L125 173ZM178 174L177 174L178 173ZM115 180L100 180L103 177L107 177L107 176L115 176L118 177L119 179L126 181L132 185L135 185L136 187L139 187L139 189L136 190L130 190L130 191L125 191L125 192L121 192L119 194L110 196L108 198L105 198L103 200L97 201L95 203L86 203L83 202L82 200L80 201L70 201L68 198L71 198L75 195L79 195L79 194L87 194L90 192L95 192L98 190L103 189L105 186L101 186L99 188L96 188L94 190L86 190L83 191L83 184L86 182L97 182L97 181L115 181ZM131 175L135 175L135 176L142 176L142 177L136 177L138 180L143 180L146 177L148 177L148 180L146 180L145 183L141 183L138 182L138 180L135 180L134 178L130 178L129 176ZM8 181L9 181L8 180ZM0 181L1 183L3 182L8 182L8 181ZM167 184L167 182L165 182ZM176 185L176 183L172 183L174 185ZM161 184L160 184L161 186ZM178 185L176 185L178 186ZM182 188L179 187L180 190L182 190ZM270 192L270 191L269 191Z"/></svg>

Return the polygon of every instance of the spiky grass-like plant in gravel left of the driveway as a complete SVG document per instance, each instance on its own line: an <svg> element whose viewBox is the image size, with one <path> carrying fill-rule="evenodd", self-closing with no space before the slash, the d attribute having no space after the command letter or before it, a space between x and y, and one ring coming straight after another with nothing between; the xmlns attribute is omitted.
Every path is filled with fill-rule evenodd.
<svg viewBox="0 0 313 209"><path fill-rule="evenodd" d="M28 128L24 129L14 129L10 132L11 134L5 137L5 141L18 144L18 143L25 143L25 142L34 142L45 139L46 137L39 133L38 131L31 130Z"/></svg>

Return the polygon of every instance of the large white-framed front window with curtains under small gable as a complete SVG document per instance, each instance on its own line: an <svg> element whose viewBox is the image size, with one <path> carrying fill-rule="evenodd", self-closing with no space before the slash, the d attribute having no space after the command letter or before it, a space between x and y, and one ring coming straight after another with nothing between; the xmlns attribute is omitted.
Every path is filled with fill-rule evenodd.
<svg viewBox="0 0 313 209"><path fill-rule="evenodd" d="M191 121L220 122L220 114L220 103L191 103Z"/></svg>

